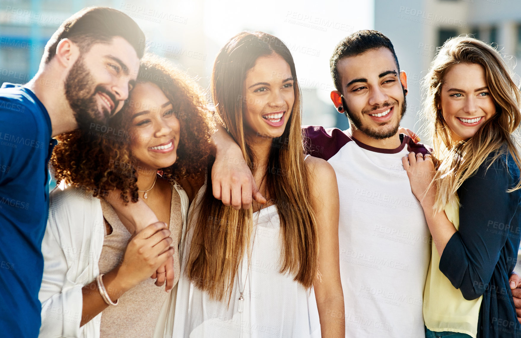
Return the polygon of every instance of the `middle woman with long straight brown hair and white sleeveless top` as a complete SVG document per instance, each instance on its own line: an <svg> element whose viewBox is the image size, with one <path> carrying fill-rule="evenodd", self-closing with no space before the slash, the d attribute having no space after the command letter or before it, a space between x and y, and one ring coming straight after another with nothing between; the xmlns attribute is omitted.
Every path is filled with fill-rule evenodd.
<svg viewBox="0 0 521 338"><path fill-rule="evenodd" d="M176 337L344 337L336 176L304 156L300 91L290 51L263 32L220 50L212 96L268 199L222 206L208 176L183 249ZM315 300L316 299L316 300Z"/></svg>

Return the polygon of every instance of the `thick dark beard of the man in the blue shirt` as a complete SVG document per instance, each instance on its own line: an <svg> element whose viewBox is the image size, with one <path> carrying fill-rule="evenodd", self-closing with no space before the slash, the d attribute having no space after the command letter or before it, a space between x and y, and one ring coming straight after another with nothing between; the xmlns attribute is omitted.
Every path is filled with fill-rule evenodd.
<svg viewBox="0 0 521 338"><path fill-rule="evenodd" d="M96 86L94 77L83 63L83 58L79 57L65 79L65 96L74 112L79 129L88 130L91 124L105 125L113 115L113 112L109 112L105 107L103 113L98 110L97 92L107 94L114 103L115 110L119 101L116 101L114 94L102 85Z"/></svg>

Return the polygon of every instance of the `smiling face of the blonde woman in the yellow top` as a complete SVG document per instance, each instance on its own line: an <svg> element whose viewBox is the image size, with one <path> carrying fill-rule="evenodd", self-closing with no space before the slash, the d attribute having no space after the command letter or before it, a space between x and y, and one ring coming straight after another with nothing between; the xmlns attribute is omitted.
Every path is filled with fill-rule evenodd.
<svg viewBox="0 0 521 338"><path fill-rule="evenodd" d="M485 69L478 64L460 63L447 70L439 101L438 108L454 141L473 137L496 111Z"/></svg>

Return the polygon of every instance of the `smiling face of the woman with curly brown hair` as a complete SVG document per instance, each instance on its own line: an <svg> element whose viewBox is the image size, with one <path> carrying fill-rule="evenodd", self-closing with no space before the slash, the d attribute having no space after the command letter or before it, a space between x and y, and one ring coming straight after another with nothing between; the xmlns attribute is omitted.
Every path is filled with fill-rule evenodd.
<svg viewBox="0 0 521 338"><path fill-rule="evenodd" d="M139 166L157 171L177 160L180 124L172 104L154 83L137 83L130 94L130 149Z"/></svg>

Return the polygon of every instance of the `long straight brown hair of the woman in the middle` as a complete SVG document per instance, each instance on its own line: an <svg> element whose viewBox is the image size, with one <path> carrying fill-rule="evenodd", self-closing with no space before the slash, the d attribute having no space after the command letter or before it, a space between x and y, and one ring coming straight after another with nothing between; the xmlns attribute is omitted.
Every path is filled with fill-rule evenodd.
<svg viewBox="0 0 521 338"><path fill-rule="evenodd" d="M244 134L243 82L261 56L280 55L291 68L295 101L281 137L272 141L267 168L257 168ZM317 222L309 197L303 159L301 95L295 64L288 47L273 35L242 32L231 38L215 59L212 98L221 124L239 144L252 172L265 171L266 195L277 205L282 238L280 273L309 288L319 277ZM234 160L234 159L233 159ZM186 273L196 287L214 299L231 297L235 275L244 253L251 250L252 209L234 210L212 194L212 179L199 206L193 228Z"/></svg>

